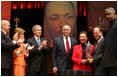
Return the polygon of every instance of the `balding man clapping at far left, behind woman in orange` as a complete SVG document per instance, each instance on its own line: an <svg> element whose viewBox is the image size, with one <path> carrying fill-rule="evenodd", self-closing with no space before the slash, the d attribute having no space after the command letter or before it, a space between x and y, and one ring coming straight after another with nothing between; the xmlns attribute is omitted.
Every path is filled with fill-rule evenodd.
<svg viewBox="0 0 118 77"><path fill-rule="evenodd" d="M13 50L18 47L16 40L18 33L13 36L13 41L8 37L10 23L8 20L1 21L1 75L12 76Z"/></svg>

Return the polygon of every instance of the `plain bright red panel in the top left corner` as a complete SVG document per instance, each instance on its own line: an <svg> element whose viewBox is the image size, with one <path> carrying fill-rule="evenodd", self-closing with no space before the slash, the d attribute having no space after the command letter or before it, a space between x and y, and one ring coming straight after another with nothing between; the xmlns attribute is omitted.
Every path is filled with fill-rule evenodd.
<svg viewBox="0 0 118 77"><path fill-rule="evenodd" d="M10 21L11 16L11 1L1 1L1 20L7 19Z"/></svg>

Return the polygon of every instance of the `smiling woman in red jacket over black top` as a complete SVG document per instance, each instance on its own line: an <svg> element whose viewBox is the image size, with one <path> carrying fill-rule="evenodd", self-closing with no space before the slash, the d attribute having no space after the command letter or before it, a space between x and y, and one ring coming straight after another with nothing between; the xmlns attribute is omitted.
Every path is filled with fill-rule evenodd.
<svg viewBox="0 0 118 77"><path fill-rule="evenodd" d="M87 33L85 31L80 32L80 42L81 44L74 46L72 61L74 62L73 70L87 70L92 73L91 63L86 59L88 55L93 54L94 46L91 45L90 52L88 52L87 44Z"/></svg>

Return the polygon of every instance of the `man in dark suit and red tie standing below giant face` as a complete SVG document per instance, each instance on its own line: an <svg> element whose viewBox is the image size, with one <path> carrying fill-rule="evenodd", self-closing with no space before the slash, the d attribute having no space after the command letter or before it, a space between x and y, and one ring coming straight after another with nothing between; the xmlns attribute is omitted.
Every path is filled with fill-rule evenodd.
<svg viewBox="0 0 118 77"><path fill-rule="evenodd" d="M54 39L54 47L52 51L53 72L68 70L73 68L72 53L73 47L77 45L77 41L69 37L71 27L64 25L62 27L63 36Z"/></svg>

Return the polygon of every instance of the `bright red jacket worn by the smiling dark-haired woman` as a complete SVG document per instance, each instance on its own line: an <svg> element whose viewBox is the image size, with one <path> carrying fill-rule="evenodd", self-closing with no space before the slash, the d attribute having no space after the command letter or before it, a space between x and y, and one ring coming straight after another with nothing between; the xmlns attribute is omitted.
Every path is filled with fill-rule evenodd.
<svg viewBox="0 0 118 77"><path fill-rule="evenodd" d="M93 54L93 51L94 51L94 46L91 45L91 51L90 51L91 55ZM72 55L72 61L74 62L73 70L88 70L92 72L91 64L81 64L82 53L83 51L82 51L81 44L74 46L73 55ZM87 56L88 55L87 47L85 53Z"/></svg>

